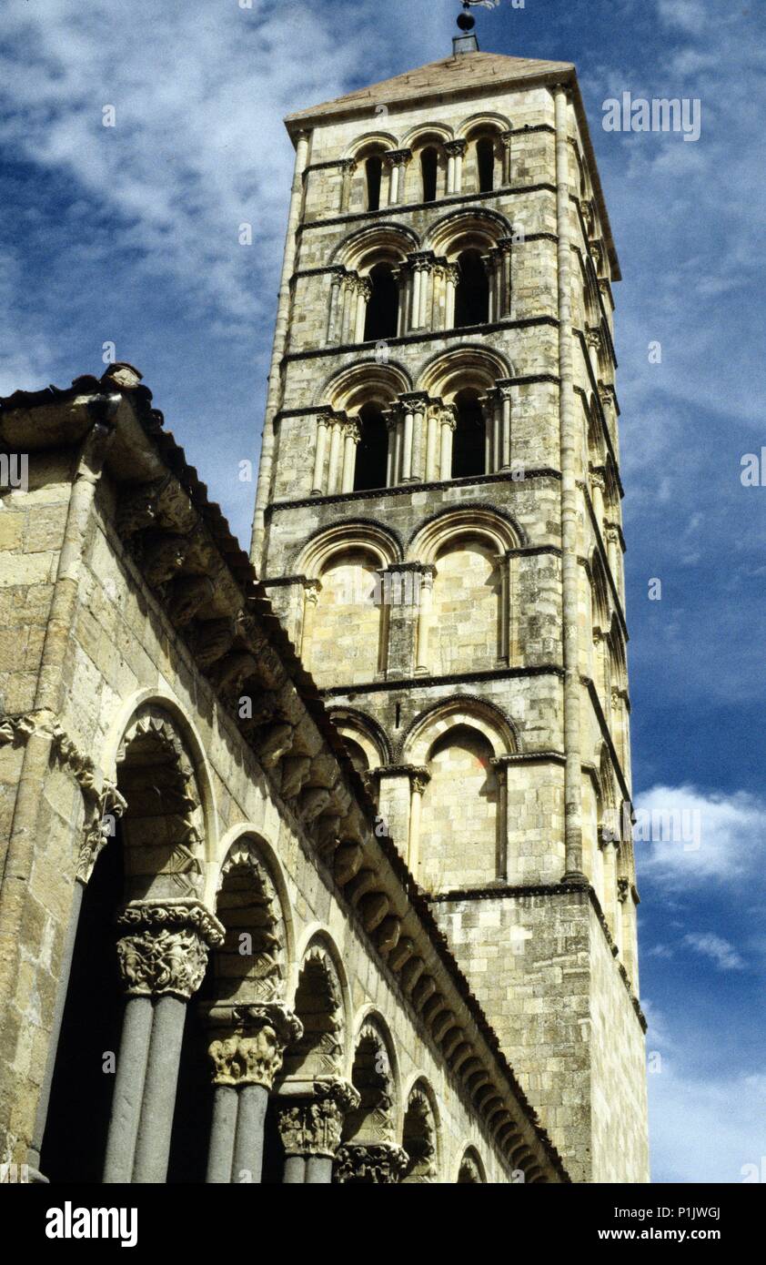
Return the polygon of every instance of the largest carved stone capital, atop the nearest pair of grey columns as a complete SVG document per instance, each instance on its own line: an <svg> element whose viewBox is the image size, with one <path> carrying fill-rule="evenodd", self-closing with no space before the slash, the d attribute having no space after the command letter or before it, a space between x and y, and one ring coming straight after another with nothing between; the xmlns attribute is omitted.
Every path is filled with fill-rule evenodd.
<svg viewBox="0 0 766 1265"><path fill-rule="evenodd" d="M129 997L188 1001L224 942L224 927L200 901L133 901L118 916L118 960Z"/></svg>

